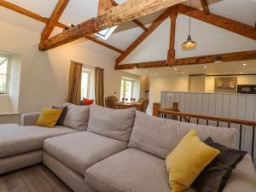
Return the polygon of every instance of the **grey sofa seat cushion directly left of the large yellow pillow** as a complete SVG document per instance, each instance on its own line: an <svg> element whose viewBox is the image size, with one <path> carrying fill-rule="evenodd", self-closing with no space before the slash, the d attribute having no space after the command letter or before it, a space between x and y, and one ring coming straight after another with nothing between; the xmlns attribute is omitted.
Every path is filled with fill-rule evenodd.
<svg viewBox="0 0 256 192"><path fill-rule="evenodd" d="M85 183L97 192L171 192L165 160L135 148L90 166Z"/></svg>

